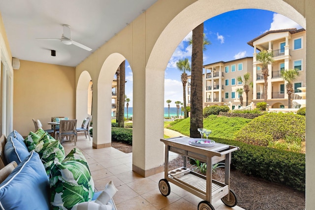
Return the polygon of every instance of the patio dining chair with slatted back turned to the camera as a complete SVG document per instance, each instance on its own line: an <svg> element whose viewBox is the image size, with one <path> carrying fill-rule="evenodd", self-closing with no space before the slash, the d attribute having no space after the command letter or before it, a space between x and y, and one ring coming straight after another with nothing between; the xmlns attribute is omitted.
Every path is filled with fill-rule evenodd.
<svg viewBox="0 0 315 210"><path fill-rule="evenodd" d="M63 143L63 138L67 137L74 141L74 146L77 144L77 120L60 120L59 131L56 132L57 138L60 143Z"/></svg>

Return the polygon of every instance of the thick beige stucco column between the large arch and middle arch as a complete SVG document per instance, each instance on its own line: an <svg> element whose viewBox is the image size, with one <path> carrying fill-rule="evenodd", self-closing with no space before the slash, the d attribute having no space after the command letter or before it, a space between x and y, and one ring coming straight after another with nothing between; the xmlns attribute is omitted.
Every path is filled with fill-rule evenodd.
<svg viewBox="0 0 315 210"><path fill-rule="evenodd" d="M164 71L146 69L133 77L132 170L148 177L164 170Z"/></svg>

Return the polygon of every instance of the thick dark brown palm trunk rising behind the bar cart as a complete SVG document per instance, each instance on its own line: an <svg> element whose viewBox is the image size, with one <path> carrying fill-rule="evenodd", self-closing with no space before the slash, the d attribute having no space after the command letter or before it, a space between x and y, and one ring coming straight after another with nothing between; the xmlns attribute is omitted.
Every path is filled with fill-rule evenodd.
<svg viewBox="0 0 315 210"><path fill-rule="evenodd" d="M200 138L198 128L203 127L202 72L203 23L192 30L190 137Z"/></svg>

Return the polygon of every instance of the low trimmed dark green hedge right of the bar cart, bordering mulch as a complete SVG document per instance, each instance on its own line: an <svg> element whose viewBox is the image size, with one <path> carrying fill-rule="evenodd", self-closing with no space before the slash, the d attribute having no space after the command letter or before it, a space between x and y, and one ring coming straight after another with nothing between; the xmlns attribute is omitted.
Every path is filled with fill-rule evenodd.
<svg viewBox="0 0 315 210"><path fill-rule="evenodd" d="M232 166L244 174L305 191L305 154L248 145L233 140L212 139L240 148L232 152Z"/></svg>

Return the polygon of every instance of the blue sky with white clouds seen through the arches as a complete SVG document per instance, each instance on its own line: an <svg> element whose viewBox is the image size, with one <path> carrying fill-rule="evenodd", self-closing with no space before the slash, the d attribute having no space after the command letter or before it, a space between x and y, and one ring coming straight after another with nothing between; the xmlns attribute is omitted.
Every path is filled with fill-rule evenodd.
<svg viewBox="0 0 315 210"><path fill-rule="evenodd" d="M203 55L203 63L209 64L218 61L229 61L244 57L252 57L253 48L247 44L253 38L268 30L289 29L301 27L284 17L271 11L258 9L242 9L223 13L204 22L204 33L212 43L207 46ZM191 61L191 46L188 37L178 45L165 69L164 107L170 99L171 107L176 107L175 101L183 102L183 85L181 72L176 68L179 59L188 58ZM191 62L190 62L191 63ZM132 71L126 61L126 96L132 106Z"/></svg>

